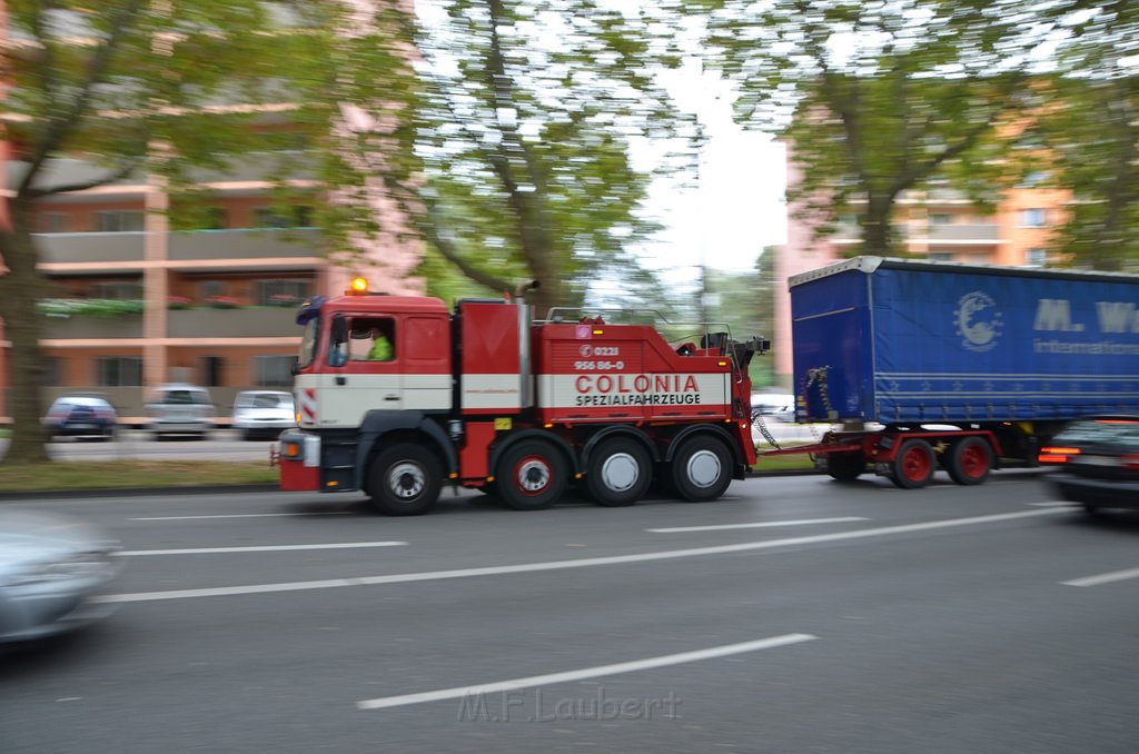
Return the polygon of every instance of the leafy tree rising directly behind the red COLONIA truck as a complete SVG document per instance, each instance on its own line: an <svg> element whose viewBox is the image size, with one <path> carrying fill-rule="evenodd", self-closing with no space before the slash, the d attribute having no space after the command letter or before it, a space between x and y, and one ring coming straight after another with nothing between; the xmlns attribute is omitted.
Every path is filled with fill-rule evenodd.
<svg viewBox="0 0 1139 754"><path fill-rule="evenodd" d="M682 6L424 3L409 125L421 180L385 174L383 191L413 219L427 264L441 256L495 294L536 279L531 301L544 312L581 304L595 276L656 230L638 212L648 175L629 141L686 124L653 75L678 63ZM370 129L358 136L360 155L380 151Z"/></svg>

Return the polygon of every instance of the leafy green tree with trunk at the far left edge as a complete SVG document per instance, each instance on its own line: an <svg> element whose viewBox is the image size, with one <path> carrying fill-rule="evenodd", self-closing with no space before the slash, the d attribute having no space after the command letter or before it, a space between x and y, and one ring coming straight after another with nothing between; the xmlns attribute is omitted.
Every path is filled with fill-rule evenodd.
<svg viewBox="0 0 1139 754"><path fill-rule="evenodd" d="M224 170L251 153L274 161L271 172L282 179L305 155L325 188L351 196L366 175L337 138L339 104L383 91L398 108L410 74L407 50L386 31L361 31L352 13L331 2L8 0L3 138L17 169L0 227L0 319L11 343L8 461L47 460L35 203L131 175L178 194L194 183L194 170ZM281 112L288 129L267 122ZM103 172L54 180L54 161L71 155ZM377 230L358 204L323 206L331 244Z"/></svg>

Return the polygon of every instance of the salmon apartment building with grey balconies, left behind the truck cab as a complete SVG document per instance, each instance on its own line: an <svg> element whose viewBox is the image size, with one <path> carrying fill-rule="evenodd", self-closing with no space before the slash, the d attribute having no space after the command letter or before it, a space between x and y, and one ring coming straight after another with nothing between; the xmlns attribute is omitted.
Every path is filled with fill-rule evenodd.
<svg viewBox="0 0 1139 754"><path fill-rule="evenodd" d="M5 167L11 186L19 165ZM74 183L95 170L60 159L47 180ZM306 297L337 295L353 274L377 292L423 292L413 248L378 244L351 267L334 265L311 207L281 216L263 172L254 156L230 174L203 175L218 202L195 230L171 229L178 198L145 175L36 207L39 267L49 280L46 401L106 393L131 419L144 416L148 386L186 382L208 387L224 419L238 391L292 386L294 315ZM3 387L11 354L0 343Z"/></svg>

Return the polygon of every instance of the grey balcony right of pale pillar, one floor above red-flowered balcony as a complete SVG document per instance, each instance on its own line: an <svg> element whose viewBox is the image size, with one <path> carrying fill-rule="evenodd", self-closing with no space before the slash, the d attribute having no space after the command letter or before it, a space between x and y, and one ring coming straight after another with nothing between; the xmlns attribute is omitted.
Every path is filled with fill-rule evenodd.
<svg viewBox="0 0 1139 754"><path fill-rule="evenodd" d="M170 233L167 254L174 262L310 259L321 255L320 245L320 231L316 228L190 230Z"/></svg>

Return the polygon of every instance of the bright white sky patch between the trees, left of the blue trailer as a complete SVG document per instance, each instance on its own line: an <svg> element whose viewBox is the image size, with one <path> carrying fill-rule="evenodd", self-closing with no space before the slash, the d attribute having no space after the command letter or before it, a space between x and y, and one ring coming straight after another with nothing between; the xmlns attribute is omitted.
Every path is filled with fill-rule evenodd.
<svg viewBox="0 0 1139 754"><path fill-rule="evenodd" d="M662 272L690 273L702 262L728 272L749 271L764 246L787 239L784 148L768 134L732 123L728 85L697 65L669 75L666 84L679 106L700 118L708 144L698 186L686 189L665 179L654 183L649 207L667 230L641 262ZM654 150L642 146L634 157L652 164Z"/></svg>

